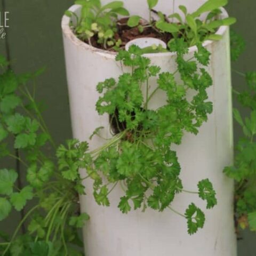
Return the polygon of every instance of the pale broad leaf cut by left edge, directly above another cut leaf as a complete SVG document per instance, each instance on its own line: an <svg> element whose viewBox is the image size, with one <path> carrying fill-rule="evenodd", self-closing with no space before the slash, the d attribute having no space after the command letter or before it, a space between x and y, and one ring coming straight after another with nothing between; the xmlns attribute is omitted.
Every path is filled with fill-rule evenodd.
<svg viewBox="0 0 256 256"><path fill-rule="evenodd" d="M13 186L17 178L18 174L14 170L0 170L0 194L11 195L13 193Z"/></svg>

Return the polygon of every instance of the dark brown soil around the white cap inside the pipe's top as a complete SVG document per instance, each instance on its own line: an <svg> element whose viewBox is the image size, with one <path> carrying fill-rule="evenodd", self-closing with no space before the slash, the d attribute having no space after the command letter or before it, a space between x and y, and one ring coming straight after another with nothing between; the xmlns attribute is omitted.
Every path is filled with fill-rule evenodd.
<svg viewBox="0 0 256 256"><path fill-rule="evenodd" d="M140 21L140 25L144 27L143 31L140 32L138 27L131 28L127 26L127 21L129 18L123 18L117 21L117 33L115 34L115 39L118 41L118 39L122 40L121 49L124 49L125 45L132 41L135 38L141 38L141 37L153 37L158 38L164 41L166 44L172 39L172 35L170 33L161 33L159 30L157 30L154 26L148 26L147 23ZM148 27L147 27L148 26ZM91 38L91 45L103 49L103 46L101 44L97 43L98 36L95 35ZM88 42L86 42L88 43ZM115 51L113 47L109 47L108 49L103 50L109 50L109 51Z"/></svg>

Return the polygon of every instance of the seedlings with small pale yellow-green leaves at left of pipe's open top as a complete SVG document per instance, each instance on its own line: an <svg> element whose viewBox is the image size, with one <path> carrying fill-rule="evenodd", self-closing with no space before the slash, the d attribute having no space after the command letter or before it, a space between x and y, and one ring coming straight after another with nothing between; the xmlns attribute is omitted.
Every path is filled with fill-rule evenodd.
<svg viewBox="0 0 256 256"><path fill-rule="evenodd" d="M106 5L101 5L100 0L76 0L75 4L82 6L81 15L71 11L66 11L68 17L75 17L75 33L78 38L88 41L96 37L97 43L103 45L104 49L119 46L121 41L114 38L117 32L118 15L129 16L129 12L123 7L122 1L113 1Z"/></svg>

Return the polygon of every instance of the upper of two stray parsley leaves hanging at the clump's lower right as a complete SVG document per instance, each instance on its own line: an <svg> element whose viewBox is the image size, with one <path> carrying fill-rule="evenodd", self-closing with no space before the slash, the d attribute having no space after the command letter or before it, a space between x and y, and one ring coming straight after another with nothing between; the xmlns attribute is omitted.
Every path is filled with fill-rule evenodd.
<svg viewBox="0 0 256 256"><path fill-rule="evenodd" d="M207 209L211 209L217 205L216 193L209 179L199 181L197 187L199 197L207 202Z"/></svg>

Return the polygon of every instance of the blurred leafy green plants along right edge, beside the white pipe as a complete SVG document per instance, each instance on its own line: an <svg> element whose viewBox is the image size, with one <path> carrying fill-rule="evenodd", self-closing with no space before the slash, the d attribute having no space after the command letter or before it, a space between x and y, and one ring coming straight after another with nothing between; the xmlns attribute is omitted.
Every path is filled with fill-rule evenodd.
<svg viewBox="0 0 256 256"><path fill-rule="evenodd" d="M256 72L247 72L244 77L247 87L241 93L234 92L250 114L243 118L234 109L234 118L242 128L243 137L235 147L234 165L225 167L224 172L236 181L235 214L239 226L256 231Z"/></svg>

